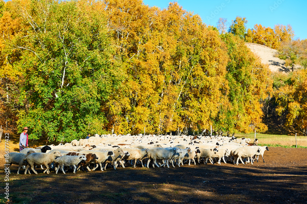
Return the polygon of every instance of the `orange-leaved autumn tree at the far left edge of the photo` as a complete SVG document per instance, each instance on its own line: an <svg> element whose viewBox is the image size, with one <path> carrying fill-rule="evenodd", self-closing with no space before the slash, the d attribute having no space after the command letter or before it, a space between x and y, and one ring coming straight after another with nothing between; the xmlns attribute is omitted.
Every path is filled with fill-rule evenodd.
<svg viewBox="0 0 307 204"><path fill-rule="evenodd" d="M26 93L21 90L23 70L15 66L22 52L13 46L27 32L17 12L20 6L23 2L0 2L0 121L6 130L16 128L18 111L25 106Z"/></svg>

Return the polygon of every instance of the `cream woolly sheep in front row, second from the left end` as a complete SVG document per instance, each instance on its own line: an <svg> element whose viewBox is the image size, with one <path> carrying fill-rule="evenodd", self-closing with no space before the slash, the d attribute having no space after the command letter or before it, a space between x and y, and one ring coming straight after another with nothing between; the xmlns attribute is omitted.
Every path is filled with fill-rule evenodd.
<svg viewBox="0 0 307 204"><path fill-rule="evenodd" d="M34 169L34 165L45 165L47 169L44 171L49 174L49 164L54 162L55 158L57 156L62 156L61 152L55 151L53 153L32 153L26 156L23 160L27 160L28 165L25 168L25 174L27 174L27 170L29 167L31 167L32 171L37 174L37 172Z"/></svg>

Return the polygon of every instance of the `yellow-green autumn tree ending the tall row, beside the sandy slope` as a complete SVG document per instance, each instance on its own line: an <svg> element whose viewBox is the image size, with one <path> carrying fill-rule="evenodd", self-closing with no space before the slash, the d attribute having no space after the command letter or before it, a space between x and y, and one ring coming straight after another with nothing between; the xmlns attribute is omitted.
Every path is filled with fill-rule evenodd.
<svg viewBox="0 0 307 204"><path fill-rule="evenodd" d="M220 110L222 118L217 121L231 132L251 132L255 128L266 130L259 102L270 93L270 70L245 46L243 40L227 33L222 40L230 57L226 67L229 90Z"/></svg>

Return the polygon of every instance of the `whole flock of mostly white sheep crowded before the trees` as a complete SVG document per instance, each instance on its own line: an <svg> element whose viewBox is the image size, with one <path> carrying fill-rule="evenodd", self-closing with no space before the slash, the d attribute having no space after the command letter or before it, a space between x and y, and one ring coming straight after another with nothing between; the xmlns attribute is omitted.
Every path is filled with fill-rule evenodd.
<svg viewBox="0 0 307 204"><path fill-rule="evenodd" d="M200 164L202 161L211 164L221 160L233 164L243 163L253 164L265 150L267 146L258 146L258 140L249 143L246 138L235 138L226 136L170 136L170 135L98 135L89 139L72 140L71 143L42 146L36 149L25 148L17 152L10 152L6 164L17 164L19 170L25 167L25 174L30 174L30 169L37 174L35 167L42 165L46 167L44 173L49 174L50 169L58 173L59 169L65 174L73 167L73 173L79 169L83 171L95 171L99 166L100 170L106 170L107 166L116 169L120 164L123 168L128 163L136 167L142 165L150 167L169 167L171 164L184 165L191 161L196 165L195 159ZM245 162L243 161L245 159ZM144 163L143 163L144 162ZM264 160L263 160L264 162Z"/></svg>

